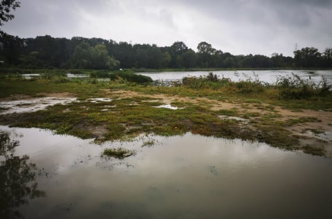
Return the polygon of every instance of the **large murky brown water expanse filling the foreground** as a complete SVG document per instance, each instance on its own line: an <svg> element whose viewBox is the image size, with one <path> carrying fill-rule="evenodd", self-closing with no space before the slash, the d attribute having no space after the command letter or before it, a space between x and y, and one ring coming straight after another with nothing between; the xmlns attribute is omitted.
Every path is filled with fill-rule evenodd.
<svg viewBox="0 0 332 219"><path fill-rule="evenodd" d="M16 142L11 152L1 149L1 174L15 172L17 164L8 161L24 155L37 173L30 182L18 180L27 171L1 178L0 193L11 193L8 182L17 180L14 189L37 182L44 194L3 212L26 218L332 218L331 159L190 133L96 145L37 128L0 131L2 148ZM101 156L118 147L136 155Z"/></svg>

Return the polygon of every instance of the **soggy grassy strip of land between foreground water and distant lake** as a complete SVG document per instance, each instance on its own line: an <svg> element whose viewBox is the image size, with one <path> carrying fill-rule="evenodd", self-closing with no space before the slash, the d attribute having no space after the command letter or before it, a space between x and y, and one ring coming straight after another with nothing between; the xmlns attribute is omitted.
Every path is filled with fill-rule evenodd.
<svg viewBox="0 0 332 219"><path fill-rule="evenodd" d="M96 143L130 140L142 133L171 136L191 132L332 156L331 140L305 132L306 128L331 130L331 84L324 77L316 84L288 75L267 84L258 77L231 82L210 73L186 77L176 86L154 86L151 79L127 71L85 73L91 77L59 79L62 75L55 73L34 79L3 76L0 95L6 100L66 93L77 101L43 111L0 115L1 124L48 128L93 138ZM143 146L153 144L151 140Z"/></svg>

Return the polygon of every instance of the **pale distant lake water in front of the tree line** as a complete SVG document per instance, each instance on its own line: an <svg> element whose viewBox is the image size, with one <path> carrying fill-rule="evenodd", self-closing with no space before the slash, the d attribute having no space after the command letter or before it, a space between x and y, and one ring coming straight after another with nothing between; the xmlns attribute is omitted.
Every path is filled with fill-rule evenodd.
<svg viewBox="0 0 332 219"><path fill-rule="evenodd" d="M332 70L216 70L211 71L219 78L225 77L232 82L246 81L247 79L259 79L261 82L273 84L277 82L277 76L299 75L302 79L310 79L319 83L322 76L326 77L327 82L332 83ZM183 77L199 77L208 75L208 71L192 72L166 72L166 73L139 73L151 77L154 81L181 82Z"/></svg>

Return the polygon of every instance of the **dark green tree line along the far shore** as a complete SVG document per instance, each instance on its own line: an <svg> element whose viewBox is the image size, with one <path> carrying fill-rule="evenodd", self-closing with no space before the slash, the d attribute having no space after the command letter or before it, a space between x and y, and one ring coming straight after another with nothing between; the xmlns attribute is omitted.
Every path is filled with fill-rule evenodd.
<svg viewBox="0 0 332 219"><path fill-rule="evenodd" d="M294 57L273 53L232 55L203 41L197 52L182 41L171 46L129 44L101 38L20 38L0 32L1 66L21 68L331 68L332 48L306 47Z"/></svg>

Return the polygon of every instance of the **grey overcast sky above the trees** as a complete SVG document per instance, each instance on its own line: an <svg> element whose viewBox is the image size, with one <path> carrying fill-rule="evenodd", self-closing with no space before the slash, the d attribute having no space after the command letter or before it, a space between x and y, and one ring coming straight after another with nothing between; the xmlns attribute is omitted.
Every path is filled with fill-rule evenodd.
<svg viewBox="0 0 332 219"><path fill-rule="evenodd" d="M332 0L19 0L2 27L19 37L101 37L234 55L332 47Z"/></svg>

